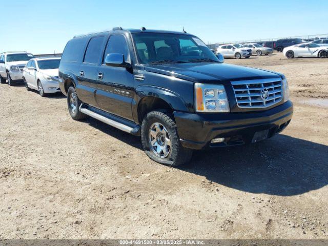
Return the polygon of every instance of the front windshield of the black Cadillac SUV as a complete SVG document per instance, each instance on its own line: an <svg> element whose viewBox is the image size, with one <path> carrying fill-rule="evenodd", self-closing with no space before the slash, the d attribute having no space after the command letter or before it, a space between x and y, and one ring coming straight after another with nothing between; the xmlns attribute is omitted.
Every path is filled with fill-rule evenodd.
<svg viewBox="0 0 328 246"><path fill-rule="evenodd" d="M161 62L219 62L199 38L171 33L134 33L133 40L141 64Z"/></svg>

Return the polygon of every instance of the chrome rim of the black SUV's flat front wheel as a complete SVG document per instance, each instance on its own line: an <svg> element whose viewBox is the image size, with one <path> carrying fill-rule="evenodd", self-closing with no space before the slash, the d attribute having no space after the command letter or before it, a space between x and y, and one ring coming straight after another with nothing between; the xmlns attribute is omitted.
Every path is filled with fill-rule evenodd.
<svg viewBox="0 0 328 246"><path fill-rule="evenodd" d="M153 153L160 158L166 158L171 152L171 137L168 130L155 122L149 129L149 145Z"/></svg>

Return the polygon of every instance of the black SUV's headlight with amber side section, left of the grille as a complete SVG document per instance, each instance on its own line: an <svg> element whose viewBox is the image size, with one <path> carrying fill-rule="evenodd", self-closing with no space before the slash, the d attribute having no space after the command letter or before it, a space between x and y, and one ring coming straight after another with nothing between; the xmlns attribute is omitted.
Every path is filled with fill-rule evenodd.
<svg viewBox="0 0 328 246"><path fill-rule="evenodd" d="M195 83L196 112L229 112L229 101L223 85Z"/></svg>

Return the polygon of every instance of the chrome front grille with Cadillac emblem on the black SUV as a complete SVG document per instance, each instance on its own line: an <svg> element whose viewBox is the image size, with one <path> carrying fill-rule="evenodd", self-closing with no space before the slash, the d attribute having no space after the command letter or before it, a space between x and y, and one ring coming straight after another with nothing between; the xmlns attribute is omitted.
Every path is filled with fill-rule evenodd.
<svg viewBox="0 0 328 246"><path fill-rule="evenodd" d="M232 81L231 84L239 108L266 108L282 100L279 78Z"/></svg>

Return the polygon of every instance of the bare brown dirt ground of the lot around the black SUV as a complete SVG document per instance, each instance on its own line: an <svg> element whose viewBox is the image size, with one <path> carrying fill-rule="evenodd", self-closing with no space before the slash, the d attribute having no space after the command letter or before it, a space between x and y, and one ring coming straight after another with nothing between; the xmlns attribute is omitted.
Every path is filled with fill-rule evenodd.
<svg viewBox="0 0 328 246"><path fill-rule="evenodd" d="M0 239L328 239L328 59L225 62L284 73L291 124L181 168L150 160L139 137L74 121L60 94L0 85Z"/></svg>

